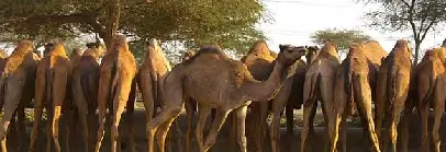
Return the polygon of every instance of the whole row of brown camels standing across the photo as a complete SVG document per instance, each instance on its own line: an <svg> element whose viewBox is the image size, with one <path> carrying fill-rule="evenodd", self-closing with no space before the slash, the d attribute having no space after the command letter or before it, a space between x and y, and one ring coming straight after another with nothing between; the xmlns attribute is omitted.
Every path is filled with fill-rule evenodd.
<svg viewBox="0 0 446 152"><path fill-rule="evenodd" d="M73 125L69 124L75 118L81 126L85 152L100 151L105 119L110 121L110 150L121 151L119 126L124 109L124 116L129 117L125 124L130 126L127 150L136 151L132 130L136 89L145 107L148 152L155 151L155 140L158 151L166 151L169 128L183 109L188 122L186 152L190 151L196 114L194 135L200 152L209 151L216 142L226 118L232 124L231 138L239 151L247 152L248 144L249 151L266 151L269 132L270 149L279 152L280 115L285 109L290 135L293 109L300 108L303 108L300 151L304 152L312 139L309 137L315 136L313 119L319 103L326 128L325 151L347 151L346 119L359 116L365 137L370 141L366 149L387 151L391 143L392 151L406 152L409 115L415 109L422 116L421 151L430 151L430 108L434 109L434 150L441 151L438 131L446 101L446 94L442 94L446 86L446 46L427 50L417 66L412 66L411 46L403 39L395 43L390 54L375 40L352 44L343 61L336 44L331 42L322 48L280 45L279 54L275 54L264 40L258 40L241 61L230 58L218 45L209 45L197 52L186 51L183 61L174 68L156 39L147 42L144 62L137 67L122 35L114 37L109 48L90 43L83 52L75 49L69 57L64 43L58 40L45 45L43 57L35 52L31 40L20 42L9 57L0 55L3 152L26 151L24 109L30 104L34 104L30 152L35 151L44 108L47 152L70 151L68 133ZM158 113L157 108L161 110ZM268 127L270 113L272 120ZM212 126L204 137L210 114ZM64 120L59 128L60 119ZM15 121L18 126L9 127ZM397 129L400 121L401 136ZM180 133L179 125L175 126L175 131ZM18 147L7 149L7 132L12 130L19 133ZM64 139L59 139L59 132L66 133ZM342 145L337 143L339 132ZM397 148L398 137L401 148Z"/></svg>

